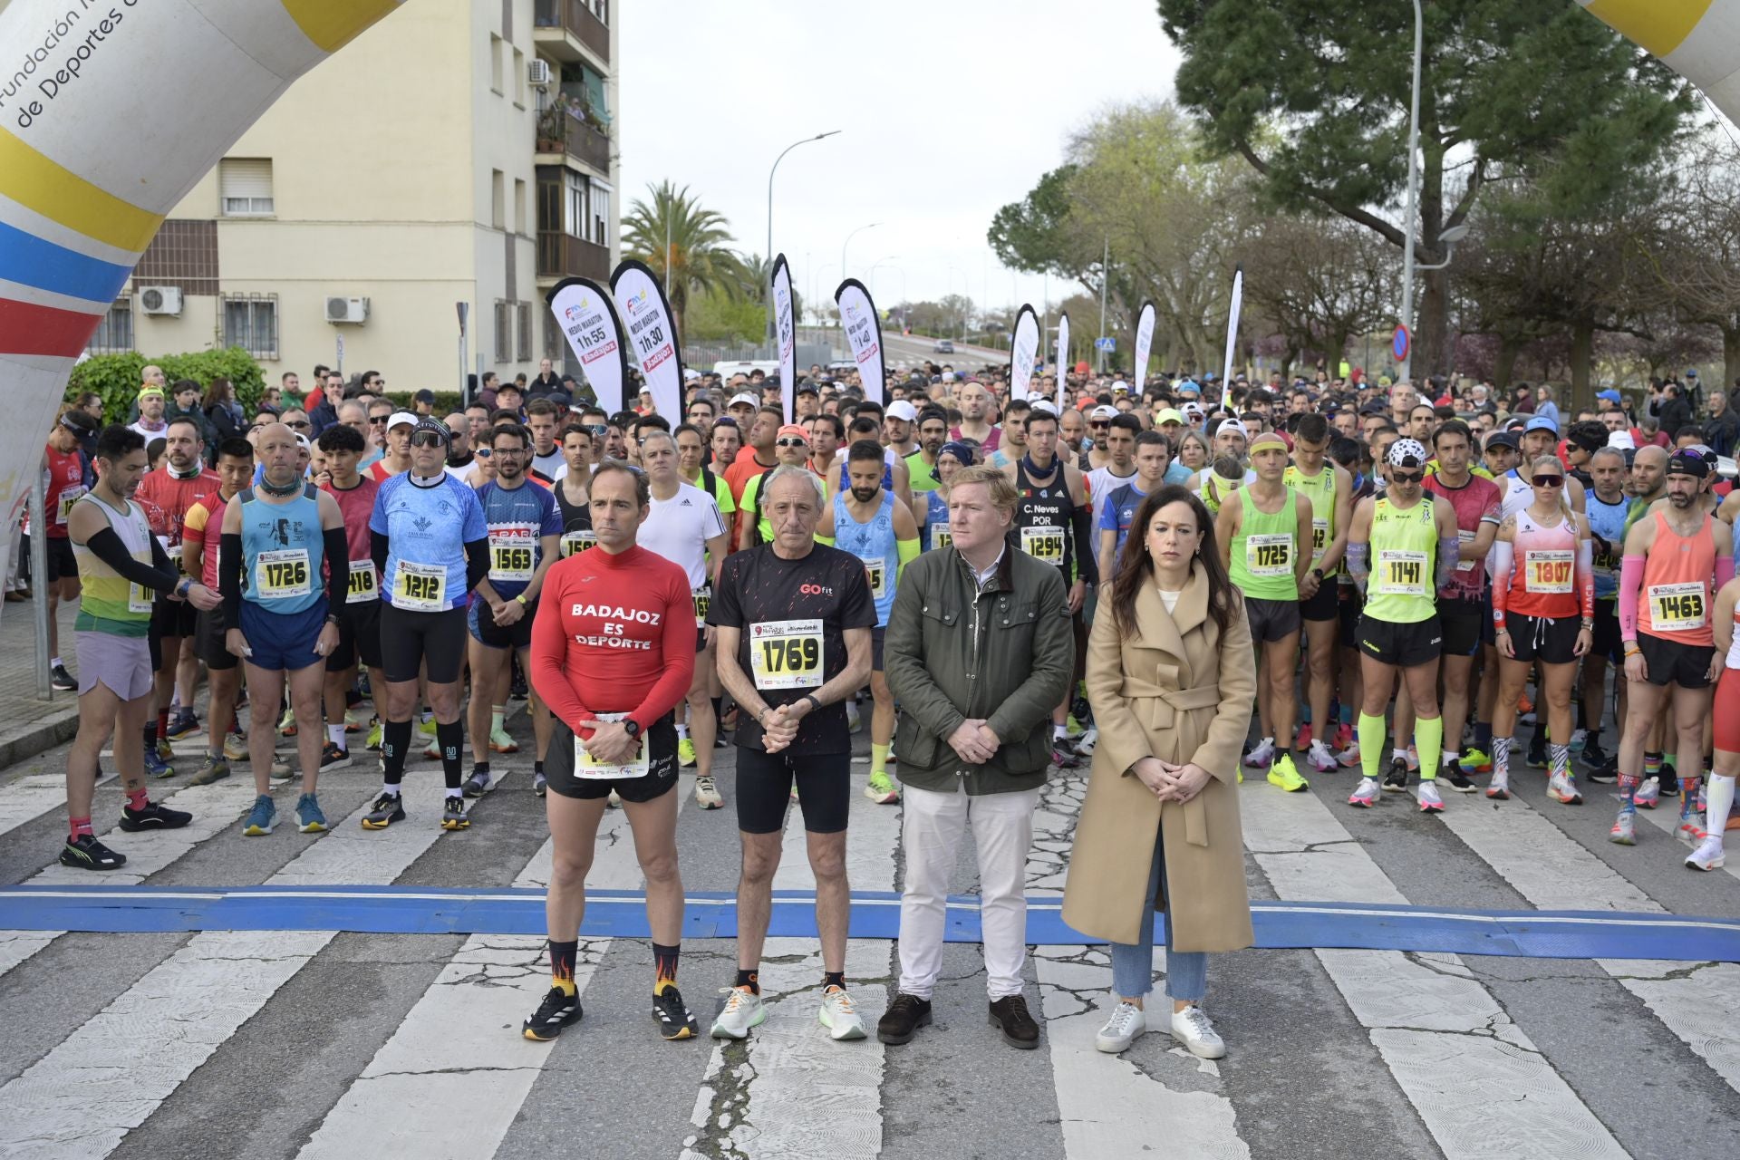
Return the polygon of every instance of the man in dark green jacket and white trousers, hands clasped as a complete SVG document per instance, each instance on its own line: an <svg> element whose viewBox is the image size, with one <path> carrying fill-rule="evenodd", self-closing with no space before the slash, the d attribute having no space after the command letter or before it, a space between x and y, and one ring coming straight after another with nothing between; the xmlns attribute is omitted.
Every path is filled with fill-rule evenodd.
<svg viewBox="0 0 1740 1160"><path fill-rule="evenodd" d="M931 1021L948 875L967 823L978 845L990 1021L1039 1047L1021 997L1027 852L1051 762L1051 710L1075 664L1063 574L1007 539L1020 499L997 468L962 468L948 492L954 544L907 565L884 638L901 704L900 993L877 1024L907 1043Z"/></svg>

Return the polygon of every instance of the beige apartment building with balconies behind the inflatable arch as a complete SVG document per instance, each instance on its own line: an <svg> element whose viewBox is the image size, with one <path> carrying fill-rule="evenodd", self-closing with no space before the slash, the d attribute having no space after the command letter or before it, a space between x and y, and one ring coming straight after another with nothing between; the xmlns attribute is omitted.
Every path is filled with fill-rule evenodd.
<svg viewBox="0 0 1740 1160"><path fill-rule="evenodd" d="M562 367L545 290L619 256L616 9L400 5L176 207L92 353L244 346L268 381L343 362L452 391L466 303L465 372Z"/></svg>

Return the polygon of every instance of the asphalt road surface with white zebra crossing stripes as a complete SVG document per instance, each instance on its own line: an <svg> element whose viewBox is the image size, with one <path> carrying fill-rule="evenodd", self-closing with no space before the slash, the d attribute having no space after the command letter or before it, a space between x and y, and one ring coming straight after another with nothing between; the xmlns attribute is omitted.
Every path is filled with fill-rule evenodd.
<svg viewBox="0 0 1740 1160"><path fill-rule="evenodd" d="M524 729L524 718L515 723ZM861 737L860 737L861 741ZM720 753L731 791L729 751ZM61 751L0 774L7 882L90 885L54 864ZM405 824L364 831L372 762L322 781L327 835L244 838L245 776L153 784L195 814L177 833L120 835L150 885L541 887L550 873L529 755L444 835L432 763L405 781ZM856 767L863 770L863 765ZM856 774L863 781L863 772ZM1740 915L1735 875L1695 875L1660 810L1634 849L1606 843L1608 798L1583 809L1519 777L1510 802L1455 797L1427 817L1402 795L1348 810L1343 783L1242 786L1253 899L1629 915ZM1543 783L1543 777L1540 779ZM1035 819L1032 899L1056 897L1084 772L1058 774ZM693 790L687 777L682 790ZM278 790L294 795L294 784ZM117 788L97 790L99 816ZM898 890L900 810L853 800L858 890ZM684 883L731 890L733 812L679 814ZM793 824L774 887L813 889ZM44 868L47 864L47 868ZM599 889L642 885L626 819L606 816ZM954 889L974 892L964 850ZM1155 950L1155 970L1166 953ZM703 1026L734 943L689 939L680 983ZM893 944L851 939L867 1023L893 997ZM0 932L0 1157L1684 1157L1726 1150L1740 1106L1740 965L1251 950L1209 967L1228 1056L1161 1031L1110 1057L1103 948L1039 944L1028 998L1044 1049L1013 1052L985 1017L976 946L945 948L936 1024L903 1047L833 1043L816 1023L814 939L769 939L769 1021L748 1042L665 1043L644 939L581 943L585 1019L553 1043L519 1021L545 986L543 941L336 930ZM1164 1028L1155 991L1150 1028Z"/></svg>

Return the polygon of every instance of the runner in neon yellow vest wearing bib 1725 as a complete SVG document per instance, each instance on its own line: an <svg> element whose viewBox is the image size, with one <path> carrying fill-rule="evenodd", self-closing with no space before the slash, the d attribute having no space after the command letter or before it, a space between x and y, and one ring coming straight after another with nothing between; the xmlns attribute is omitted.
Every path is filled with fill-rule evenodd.
<svg viewBox="0 0 1740 1160"><path fill-rule="evenodd" d="M1289 750L1298 685L1293 678L1300 659L1300 581L1308 574L1312 504L1282 483L1288 445L1274 431L1251 440L1256 480L1241 487L1215 517L1220 562L1234 588L1244 593L1251 621L1258 671L1256 715L1262 737L1244 757L1255 769L1268 769L1268 783L1288 793L1307 790ZM1275 748L1275 737L1281 748Z"/></svg>

